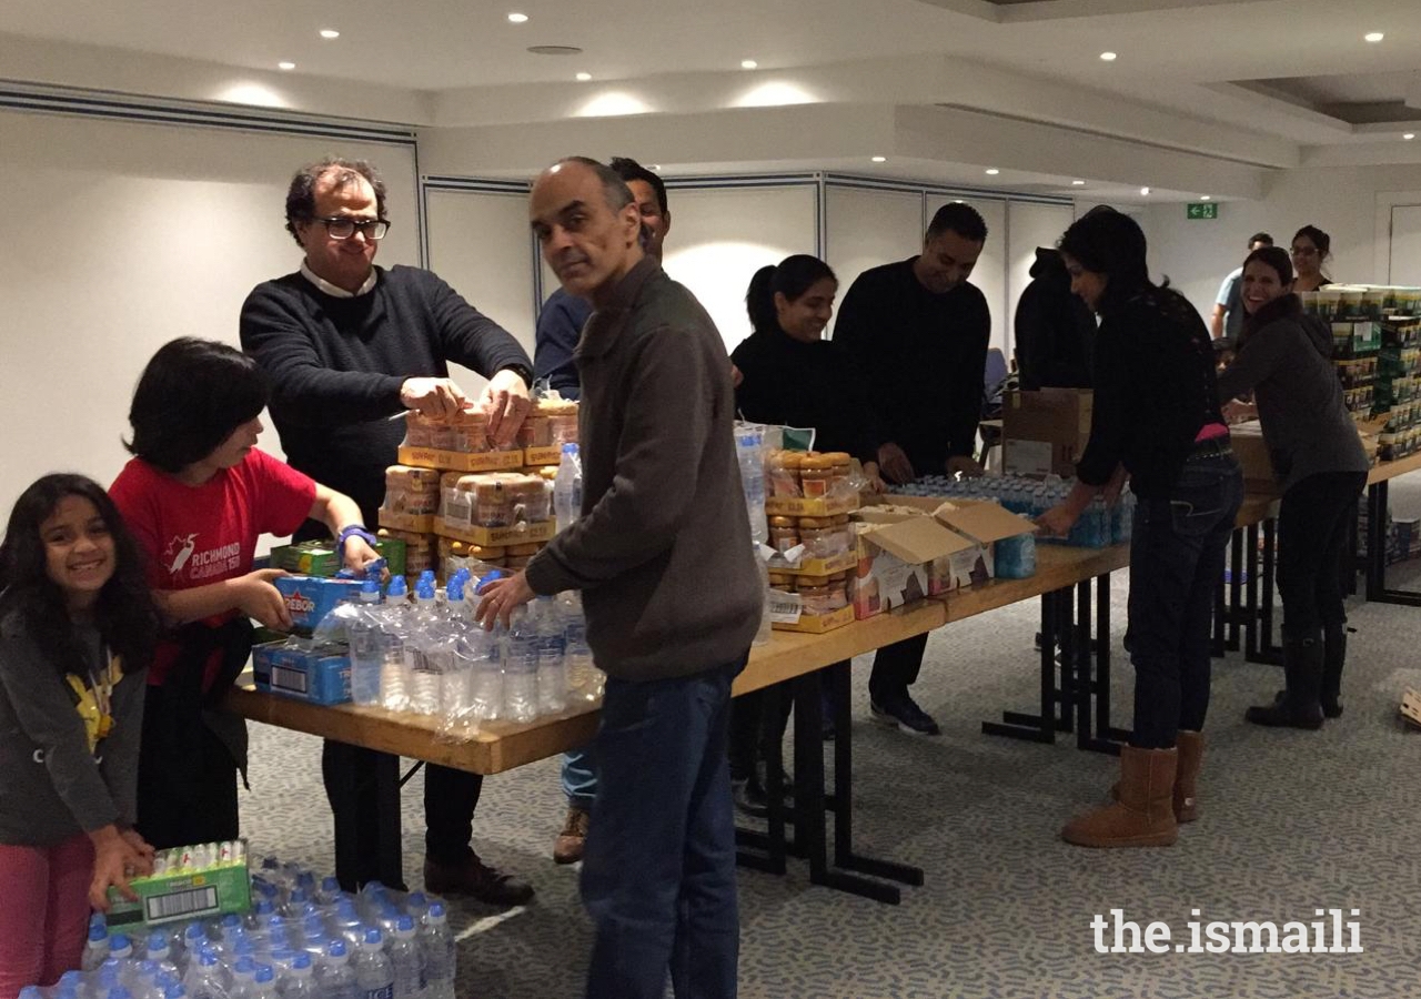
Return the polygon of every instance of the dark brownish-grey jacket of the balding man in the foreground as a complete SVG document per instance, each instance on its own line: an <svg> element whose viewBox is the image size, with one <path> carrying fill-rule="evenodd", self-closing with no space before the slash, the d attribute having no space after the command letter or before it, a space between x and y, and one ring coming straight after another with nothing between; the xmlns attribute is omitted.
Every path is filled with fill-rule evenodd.
<svg viewBox="0 0 1421 999"><path fill-rule="evenodd" d="M587 321L574 357L583 517L533 557L529 585L583 591L587 641L610 676L689 676L743 657L763 593L715 323L648 257Z"/></svg>

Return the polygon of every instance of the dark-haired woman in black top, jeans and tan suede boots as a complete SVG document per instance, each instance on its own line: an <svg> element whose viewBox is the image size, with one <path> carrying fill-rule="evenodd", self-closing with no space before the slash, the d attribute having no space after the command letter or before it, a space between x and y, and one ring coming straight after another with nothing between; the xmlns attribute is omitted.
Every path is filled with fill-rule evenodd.
<svg viewBox="0 0 1421 999"><path fill-rule="evenodd" d="M1090 442L1066 500L1042 514L1064 534L1125 477L1138 497L1130 539L1127 648L1135 713L1115 803L1061 830L1083 847L1169 846L1196 810L1209 706L1209 630L1243 476L1219 412L1208 327L1154 284L1130 216L1079 219L1060 243L1071 287L1100 315Z"/></svg>

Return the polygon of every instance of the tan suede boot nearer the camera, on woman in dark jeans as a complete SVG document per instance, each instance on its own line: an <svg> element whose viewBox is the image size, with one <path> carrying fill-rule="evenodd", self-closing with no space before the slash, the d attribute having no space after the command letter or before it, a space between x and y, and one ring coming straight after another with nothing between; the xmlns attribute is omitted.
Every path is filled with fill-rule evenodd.
<svg viewBox="0 0 1421 999"><path fill-rule="evenodd" d="M1168 847L1178 749L1120 749L1120 800L1066 823L1061 838L1079 847Z"/></svg>

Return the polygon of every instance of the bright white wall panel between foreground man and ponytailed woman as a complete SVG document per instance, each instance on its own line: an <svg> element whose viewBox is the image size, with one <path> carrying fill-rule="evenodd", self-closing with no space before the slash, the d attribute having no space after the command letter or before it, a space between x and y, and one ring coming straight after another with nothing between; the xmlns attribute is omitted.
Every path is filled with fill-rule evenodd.
<svg viewBox="0 0 1421 999"><path fill-rule="evenodd" d="M818 252L818 183L669 182L665 269L701 300L726 352L750 334L745 291L764 264Z"/></svg>

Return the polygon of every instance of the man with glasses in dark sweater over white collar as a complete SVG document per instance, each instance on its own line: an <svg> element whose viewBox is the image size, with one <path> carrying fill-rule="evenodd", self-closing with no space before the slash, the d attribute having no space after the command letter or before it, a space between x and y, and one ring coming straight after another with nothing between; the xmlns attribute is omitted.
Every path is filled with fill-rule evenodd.
<svg viewBox="0 0 1421 999"><path fill-rule="evenodd" d="M324 159L303 168L286 196L286 227L306 259L296 273L247 296L240 330L243 350L271 377L271 422L293 468L354 497L365 524L375 523L385 468L395 463L404 436L404 421L392 418L406 409L448 416L466 402L449 378L450 361L489 378L479 401L489 435L497 443L513 441L529 411L527 352L433 273L375 267L389 222L374 166ZM321 534L324 529L308 536ZM402 882L399 844L375 779L379 769L398 774L398 766L387 753L325 743L321 770L335 814L335 868L347 890ZM519 905L533 888L487 867L469 846L482 784L479 774L426 767L425 887Z"/></svg>

